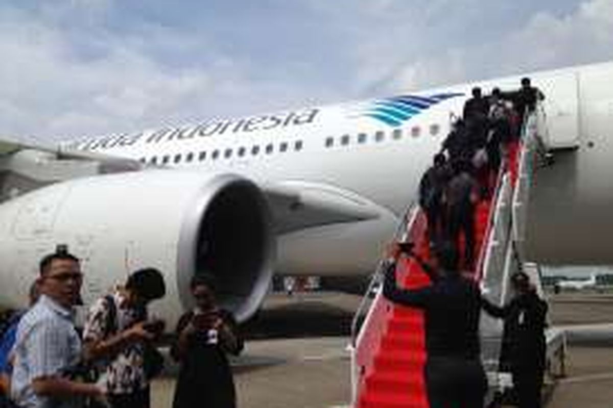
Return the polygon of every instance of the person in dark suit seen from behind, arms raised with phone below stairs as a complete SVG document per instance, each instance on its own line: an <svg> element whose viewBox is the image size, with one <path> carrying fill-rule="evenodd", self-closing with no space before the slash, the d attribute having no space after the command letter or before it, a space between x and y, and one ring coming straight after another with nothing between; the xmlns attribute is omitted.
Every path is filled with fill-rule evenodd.
<svg viewBox="0 0 613 408"><path fill-rule="evenodd" d="M430 275L432 284L419 289L398 288L396 264L401 254L416 259ZM438 245L432 266L415 256L407 244L392 248L390 258L384 296L425 312L424 376L430 408L482 407L487 383L479 357L481 294L473 281L458 272L454 245Z"/></svg>

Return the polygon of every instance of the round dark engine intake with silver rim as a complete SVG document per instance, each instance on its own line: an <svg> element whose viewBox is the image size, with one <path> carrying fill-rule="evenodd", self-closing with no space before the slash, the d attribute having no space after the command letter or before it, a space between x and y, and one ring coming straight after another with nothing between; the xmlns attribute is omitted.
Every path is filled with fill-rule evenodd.
<svg viewBox="0 0 613 408"><path fill-rule="evenodd" d="M219 303L245 321L257 311L272 278L270 216L253 183L235 176L215 181L219 185L204 191L181 231L181 301L192 306L189 280L197 273L211 273Z"/></svg>

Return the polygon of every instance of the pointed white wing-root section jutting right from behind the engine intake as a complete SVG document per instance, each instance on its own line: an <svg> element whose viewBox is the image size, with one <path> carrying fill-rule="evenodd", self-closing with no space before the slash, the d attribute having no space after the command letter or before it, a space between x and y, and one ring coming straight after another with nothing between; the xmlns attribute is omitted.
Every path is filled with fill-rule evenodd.
<svg viewBox="0 0 613 408"><path fill-rule="evenodd" d="M328 184L289 181L264 184L276 232L284 234L315 226L351 223L381 217L384 209L352 191Z"/></svg>

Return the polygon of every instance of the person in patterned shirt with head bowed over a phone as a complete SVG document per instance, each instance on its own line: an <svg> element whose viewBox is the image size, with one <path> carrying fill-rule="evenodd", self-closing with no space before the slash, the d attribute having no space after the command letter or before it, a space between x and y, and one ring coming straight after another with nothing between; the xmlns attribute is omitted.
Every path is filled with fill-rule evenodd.
<svg viewBox="0 0 613 408"><path fill-rule="evenodd" d="M158 270L140 269L89 310L85 357L102 365L100 382L113 408L150 406L148 362L157 353L151 341L162 334L164 322L147 320L147 305L165 293Z"/></svg>

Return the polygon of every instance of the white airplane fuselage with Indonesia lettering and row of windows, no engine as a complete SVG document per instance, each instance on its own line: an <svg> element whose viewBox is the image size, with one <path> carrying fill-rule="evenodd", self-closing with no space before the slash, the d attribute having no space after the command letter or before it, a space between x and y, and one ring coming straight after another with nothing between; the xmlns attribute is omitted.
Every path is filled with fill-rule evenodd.
<svg viewBox="0 0 613 408"><path fill-rule="evenodd" d="M613 251L607 245L613 230L613 217L608 216L613 204L613 64L528 76L546 95L548 143L554 149L571 149L556 154L555 165L539 170L535 176L528 258L548 263L609 264L613 262ZM70 144L70 148L171 168L233 172L258 183L308 181L331 185L367 198L400 217L416 199L421 174L440 149L451 118L461 113L471 87L481 86L485 94L495 86L511 91L517 89L519 79L514 76L419 92L416 95L424 97L448 95L417 109L411 117L396 116L394 123L367 114L385 108L390 98L384 98L86 139ZM351 227L340 224L337 228L339 234L346 234ZM390 237L392 229L388 223L384 233L376 234L376 242L371 243L373 251L368 254L375 256L371 265L376 262L381 241ZM312 259L312 251L319 250L324 258L330 254L326 258L330 262L338 262L337 255L343 253L343 240L334 245L326 242L326 237L334 239L334 228L327 227L324 232L321 228L305 230L298 233L302 237L297 240L296 234L289 234L288 242L311 247L303 253L285 248L293 256ZM281 264L283 257L282 251ZM297 264L302 265L299 271L281 269L286 273L308 272L309 261L287 262ZM351 269L351 261L343 268ZM320 259L311 272L318 274L321 269ZM333 268L326 272L333 273Z"/></svg>

